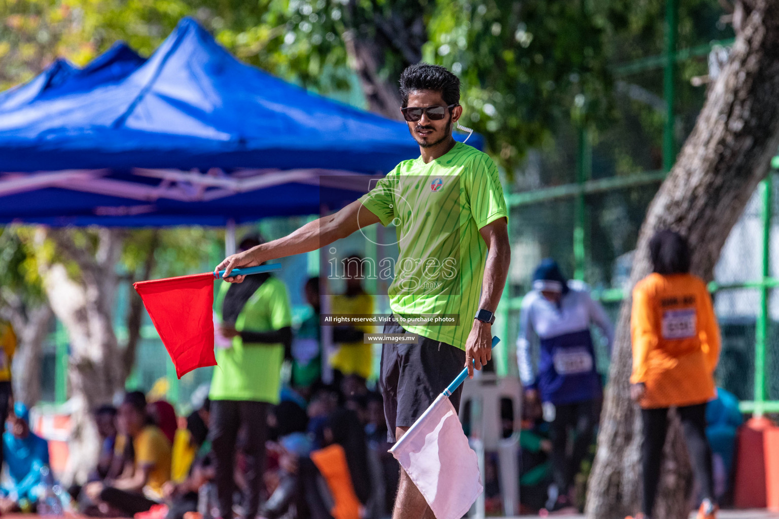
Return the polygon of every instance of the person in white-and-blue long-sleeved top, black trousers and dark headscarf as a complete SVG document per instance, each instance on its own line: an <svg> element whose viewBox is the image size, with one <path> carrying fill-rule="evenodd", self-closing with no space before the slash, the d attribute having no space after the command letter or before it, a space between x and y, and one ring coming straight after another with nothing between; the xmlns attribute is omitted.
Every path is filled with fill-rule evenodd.
<svg viewBox="0 0 779 519"><path fill-rule="evenodd" d="M546 507L570 507L573 478L590 448L601 400L601 377L595 365L590 325L612 343L613 328L605 310L583 283L569 282L551 258L533 275L533 290L523 297L516 359L528 403L541 399L551 422L552 476ZM538 349L538 354L534 354ZM538 366L533 359L538 357ZM573 448L569 450L569 440ZM569 454L570 453L570 454Z"/></svg>

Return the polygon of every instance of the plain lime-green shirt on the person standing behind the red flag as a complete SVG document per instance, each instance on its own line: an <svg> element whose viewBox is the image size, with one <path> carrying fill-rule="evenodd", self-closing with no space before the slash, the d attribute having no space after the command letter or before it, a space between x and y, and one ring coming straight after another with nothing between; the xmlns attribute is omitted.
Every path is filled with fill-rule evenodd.
<svg viewBox="0 0 779 519"><path fill-rule="evenodd" d="M222 303L230 283L221 283L216 298L217 316L222 317ZM290 326L292 312L287 288L280 279L271 276L246 302L235 329L238 331L273 331ZM279 403L281 363L284 345L244 344L234 337L228 349L217 348L217 366L213 368L211 400L251 400Z"/></svg>

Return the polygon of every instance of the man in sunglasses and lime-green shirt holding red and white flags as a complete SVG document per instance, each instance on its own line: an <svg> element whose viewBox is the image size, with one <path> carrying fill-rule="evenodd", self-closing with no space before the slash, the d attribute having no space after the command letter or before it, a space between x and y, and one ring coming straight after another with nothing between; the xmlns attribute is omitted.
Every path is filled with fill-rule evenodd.
<svg viewBox="0 0 779 519"><path fill-rule="evenodd" d="M411 65L400 76L400 108L420 156L405 160L359 200L287 237L233 254L227 269L313 251L374 223L396 226L399 254L388 289L393 318L385 333L408 333L382 348L380 384L391 442L402 437L467 366L491 359L492 322L509 269L508 211L495 163L453 139L460 80L438 65ZM431 321L419 319L430 318ZM438 317L436 319L436 317ZM413 334L413 335L411 335ZM450 398L455 409L460 392ZM393 519L433 517L405 472Z"/></svg>

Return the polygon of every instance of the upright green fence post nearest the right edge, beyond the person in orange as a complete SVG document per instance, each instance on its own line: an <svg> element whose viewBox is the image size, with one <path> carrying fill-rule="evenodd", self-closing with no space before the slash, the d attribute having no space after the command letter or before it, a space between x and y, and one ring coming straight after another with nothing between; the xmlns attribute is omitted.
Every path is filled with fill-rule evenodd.
<svg viewBox="0 0 779 519"><path fill-rule="evenodd" d="M766 345L768 338L768 283L770 275L770 236L772 212L772 173L761 183L763 188L763 258L760 272L760 308L755 328L755 409L754 416L763 416L766 400Z"/></svg>

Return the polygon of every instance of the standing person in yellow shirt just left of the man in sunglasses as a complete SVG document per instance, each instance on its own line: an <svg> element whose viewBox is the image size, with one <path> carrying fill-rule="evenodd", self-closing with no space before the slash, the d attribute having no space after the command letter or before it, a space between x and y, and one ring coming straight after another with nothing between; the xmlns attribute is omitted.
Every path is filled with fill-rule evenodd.
<svg viewBox="0 0 779 519"><path fill-rule="evenodd" d="M365 293L362 280L365 278L365 260L358 255L344 258L344 277L346 292L333 296L331 312L333 314L372 314L373 297ZM333 330L333 340L338 349L330 357L330 364L336 370L335 382L340 384L344 377L355 375L365 380L371 377L373 366L373 345L365 344L363 334L371 332L369 325L337 326Z"/></svg>

